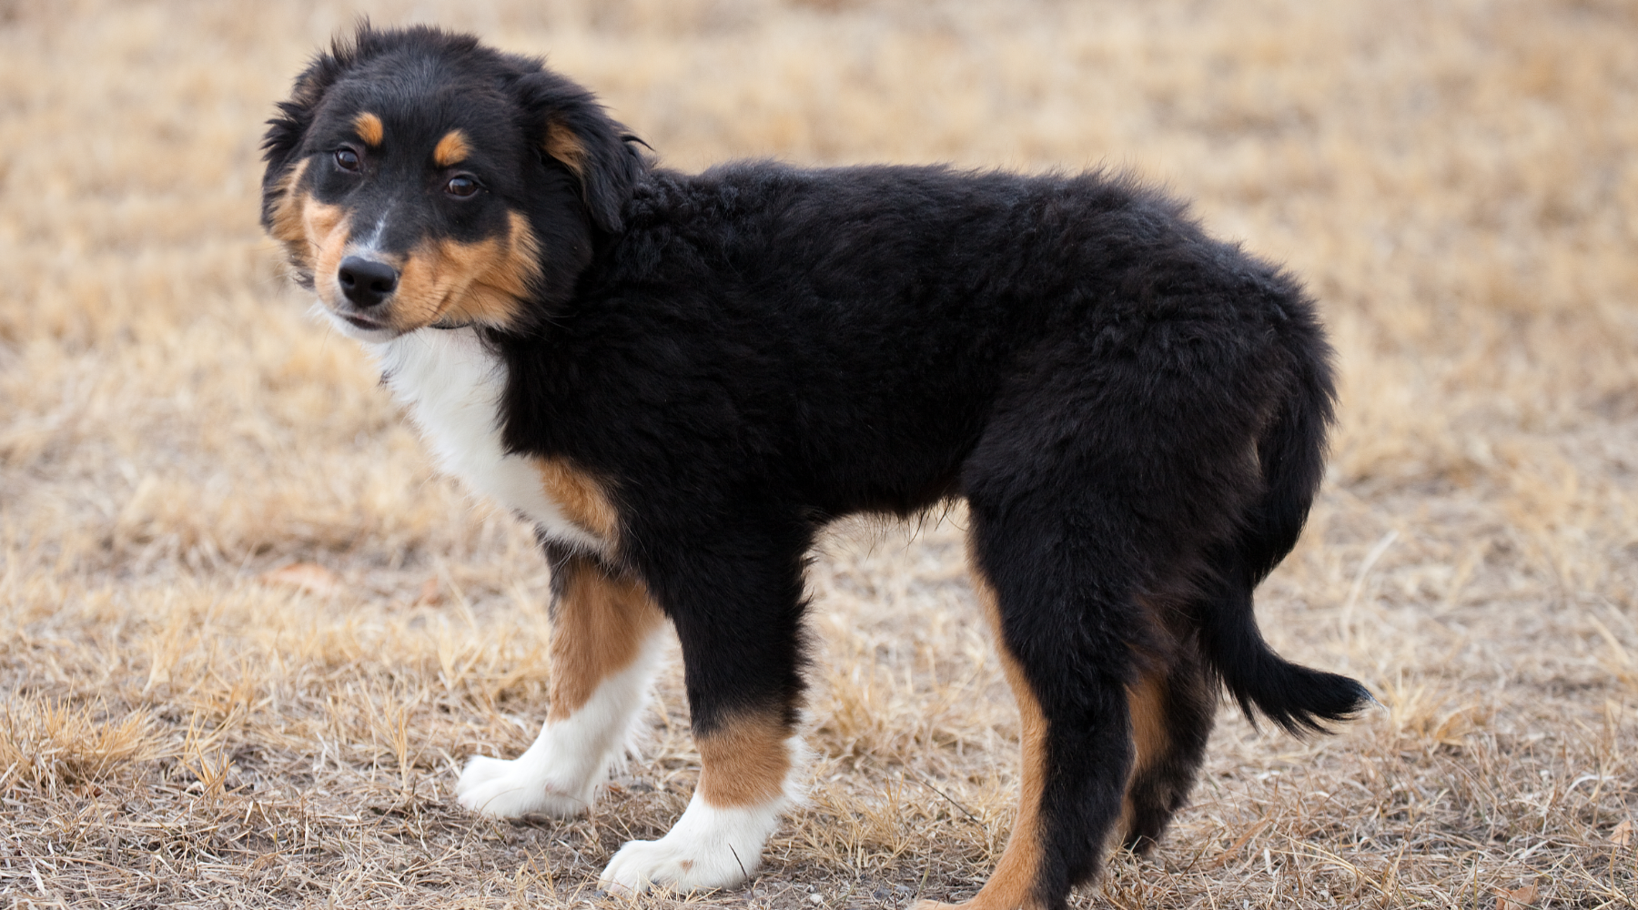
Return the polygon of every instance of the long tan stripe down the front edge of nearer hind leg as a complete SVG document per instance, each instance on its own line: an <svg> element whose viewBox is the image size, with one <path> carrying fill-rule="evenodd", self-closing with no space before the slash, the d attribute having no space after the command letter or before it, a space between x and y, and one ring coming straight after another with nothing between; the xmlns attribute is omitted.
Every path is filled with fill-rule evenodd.
<svg viewBox="0 0 1638 910"><path fill-rule="evenodd" d="M960 907L963 910L1034 908L1037 907L1035 879L1040 876L1042 859L1040 794L1047 784L1047 715L1042 714L1040 702L1035 701L1035 691L1030 687L1029 678L1024 676L1024 668L1012 656L1012 651L1007 650L1006 638L1001 635L1001 609L996 602L996 591L978 568L978 560L973 560L971 542L968 542L968 565L973 573L973 588L978 592L978 601L984 606L984 614L988 614L989 625L996 633L996 653L1001 655L1001 668L1006 671L1007 686L1012 687L1012 697L1019 705L1019 738L1022 740L1024 753L1019 815L1017 822L1012 823L1007 848L1001 853L1001 861L996 863L996 871L989 874L989 881L984 882L984 887L971 900L963 903L924 900L919 907Z"/></svg>

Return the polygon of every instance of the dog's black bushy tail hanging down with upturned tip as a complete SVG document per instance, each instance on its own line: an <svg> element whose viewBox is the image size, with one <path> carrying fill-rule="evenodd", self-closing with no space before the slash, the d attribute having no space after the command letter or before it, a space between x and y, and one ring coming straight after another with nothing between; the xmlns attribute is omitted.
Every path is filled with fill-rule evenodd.
<svg viewBox="0 0 1638 910"><path fill-rule="evenodd" d="M1297 666L1276 655L1256 628L1251 591L1297 543L1325 471L1325 430L1335 391L1330 347L1314 322L1289 326L1292 394L1258 440L1263 496L1232 540L1210 556L1212 578L1199 602L1201 650L1240 709L1253 705L1291 733L1325 730L1374 699L1360 682Z"/></svg>

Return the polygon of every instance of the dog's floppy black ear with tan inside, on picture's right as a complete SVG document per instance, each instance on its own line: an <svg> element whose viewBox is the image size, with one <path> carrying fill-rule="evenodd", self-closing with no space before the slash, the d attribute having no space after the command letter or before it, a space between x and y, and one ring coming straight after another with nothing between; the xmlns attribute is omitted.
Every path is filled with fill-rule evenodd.
<svg viewBox="0 0 1638 910"><path fill-rule="evenodd" d="M609 118L596 97L554 72L524 75L516 90L537 147L580 180L591 223L619 231L621 208L647 167L634 146L642 139Z"/></svg>

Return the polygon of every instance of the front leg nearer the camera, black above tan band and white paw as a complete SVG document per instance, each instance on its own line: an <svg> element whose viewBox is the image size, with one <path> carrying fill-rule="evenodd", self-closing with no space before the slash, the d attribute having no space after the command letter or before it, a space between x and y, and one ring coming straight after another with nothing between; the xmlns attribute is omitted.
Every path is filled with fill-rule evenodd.
<svg viewBox="0 0 1638 910"><path fill-rule="evenodd" d="M686 574L650 576L683 645L701 771L688 809L663 838L631 841L609 861L600 885L616 894L744 882L796 799L799 555L709 563L716 560L693 561Z"/></svg>

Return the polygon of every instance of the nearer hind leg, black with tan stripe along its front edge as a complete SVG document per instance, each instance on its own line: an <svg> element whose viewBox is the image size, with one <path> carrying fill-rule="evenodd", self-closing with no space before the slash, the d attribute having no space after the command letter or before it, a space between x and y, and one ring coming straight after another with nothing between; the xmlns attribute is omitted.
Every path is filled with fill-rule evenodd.
<svg viewBox="0 0 1638 910"><path fill-rule="evenodd" d="M1143 620L1119 540L1088 534L1088 502L971 501L973 581L1022 725L1019 813L994 874L965 907L1065 907L1091 879L1132 768L1130 707ZM1096 520L1094 520L1096 524Z"/></svg>

